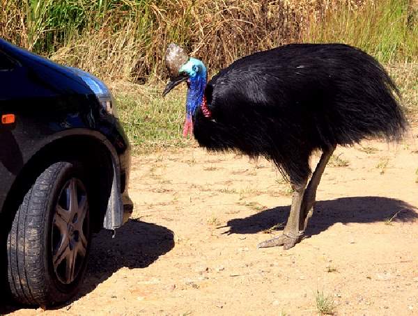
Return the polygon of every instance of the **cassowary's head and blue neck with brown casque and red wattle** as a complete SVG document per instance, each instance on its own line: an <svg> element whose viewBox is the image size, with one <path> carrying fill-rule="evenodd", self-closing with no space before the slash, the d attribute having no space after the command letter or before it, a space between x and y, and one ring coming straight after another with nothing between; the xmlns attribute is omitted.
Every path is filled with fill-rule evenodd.
<svg viewBox="0 0 418 316"><path fill-rule="evenodd" d="M183 136L187 136L188 132L192 132L194 113L203 101L206 67L199 59L189 58L185 50L176 44L169 45L165 59L170 81L162 95L167 95L175 86L187 81L186 121L183 129Z"/></svg>

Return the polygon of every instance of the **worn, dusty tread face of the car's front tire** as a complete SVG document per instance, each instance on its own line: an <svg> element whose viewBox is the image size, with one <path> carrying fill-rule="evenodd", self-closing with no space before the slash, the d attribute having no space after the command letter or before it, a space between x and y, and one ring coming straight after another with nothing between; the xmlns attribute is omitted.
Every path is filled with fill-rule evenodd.
<svg viewBox="0 0 418 316"><path fill-rule="evenodd" d="M17 301L28 305L47 306L48 290L45 274L47 267L42 260L45 256L49 203L55 180L70 163L60 161L52 164L39 175L27 191L20 205L8 235L8 280L10 291Z"/></svg>

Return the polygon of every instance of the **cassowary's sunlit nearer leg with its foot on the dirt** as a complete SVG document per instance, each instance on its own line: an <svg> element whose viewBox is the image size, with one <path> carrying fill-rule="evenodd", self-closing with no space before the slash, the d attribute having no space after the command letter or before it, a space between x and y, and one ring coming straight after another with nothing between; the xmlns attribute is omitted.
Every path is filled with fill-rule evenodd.
<svg viewBox="0 0 418 316"><path fill-rule="evenodd" d="M293 189L291 214L289 214L289 218L286 223L286 227L283 230L283 234L279 237L275 237L273 239L266 240L265 242L261 242L260 244L258 244L258 248L283 246L283 248L288 249L295 246L297 242L300 242L300 239L303 235L303 231L300 231L299 228L300 219L303 218L301 216L301 212L303 212L302 201L306 184L307 181L304 181L302 184L295 184L291 181L291 186Z"/></svg>

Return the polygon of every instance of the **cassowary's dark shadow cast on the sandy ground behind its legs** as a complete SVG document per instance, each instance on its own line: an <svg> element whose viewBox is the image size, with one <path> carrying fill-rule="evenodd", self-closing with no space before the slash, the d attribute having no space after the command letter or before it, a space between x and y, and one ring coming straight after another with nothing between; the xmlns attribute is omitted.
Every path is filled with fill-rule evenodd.
<svg viewBox="0 0 418 316"><path fill-rule="evenodd" d="M228 234L254 234L272 227L277 223L284 228L290 206L274 207L263 212L248 216L244 219L232 219L226 223L229 227ZM418 219L417 209L394 198L382 198L378 196L359 196L352 198L336 198L335 200L317 201L314 216L309 221L305 237L318 235L327 230L334 223L373 223L407 222Z"/></svg>

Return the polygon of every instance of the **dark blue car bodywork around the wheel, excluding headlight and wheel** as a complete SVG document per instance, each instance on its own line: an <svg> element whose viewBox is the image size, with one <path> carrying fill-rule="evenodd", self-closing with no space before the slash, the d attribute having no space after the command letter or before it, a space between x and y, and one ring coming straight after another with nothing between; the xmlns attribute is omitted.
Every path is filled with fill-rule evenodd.
<svg viewBox="0 0 418 316"><path fill-rule="evenodd" d="M4 56L13 68L0 69L0 116L13 113L15 123L0 124L0 213L22 168L50 143L77 135L93 137L109 150L114 184L103 226L121 226L123 210L132 211L132 202L126 189L121 192L127 187L121 174L129 179L130 144L118 119L104 111L70 68L0 39L0 58Z"/></svg>

